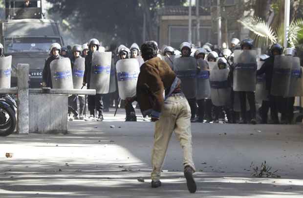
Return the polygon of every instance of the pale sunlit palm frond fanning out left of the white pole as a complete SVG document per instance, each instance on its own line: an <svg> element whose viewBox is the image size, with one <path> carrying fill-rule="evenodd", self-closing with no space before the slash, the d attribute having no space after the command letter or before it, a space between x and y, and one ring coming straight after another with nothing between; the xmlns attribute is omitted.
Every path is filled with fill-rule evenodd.
<svg viewBox="0 0 303 198"><path fill-rule="evenodd" d="M256 46L268 46L277 42L276 33L259 17L245 17L239 19L238 22L253 33Z"/></svg>

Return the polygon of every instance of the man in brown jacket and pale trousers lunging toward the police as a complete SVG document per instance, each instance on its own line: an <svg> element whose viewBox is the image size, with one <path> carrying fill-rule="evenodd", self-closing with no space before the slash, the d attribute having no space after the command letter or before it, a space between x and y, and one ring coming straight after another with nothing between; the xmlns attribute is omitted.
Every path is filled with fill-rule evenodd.
<svg viewBox="0 0 303 198"><path fill-rule="evenodd" d="M155 42L142 44L141 52L145 63L140 68L137 96L128 98L127 102L137 100L143 116L150 114L151 121L155 122L151 187L161 186L161 167L174 132L183 149L184 176L188 190L195 193L191 109L180 88L181 81L171 67L157 57L158 47Z"/></svg>

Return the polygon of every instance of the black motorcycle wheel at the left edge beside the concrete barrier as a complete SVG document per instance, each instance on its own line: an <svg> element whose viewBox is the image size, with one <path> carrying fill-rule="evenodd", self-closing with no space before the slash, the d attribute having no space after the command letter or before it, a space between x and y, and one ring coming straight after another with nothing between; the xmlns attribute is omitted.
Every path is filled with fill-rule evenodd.
<svg viewBox="0 0 303 198"><path fill-rule="evenodd" d="M15 111L12 110L10 107L3 107L0 106L1 114L3 113L8 117L6 121L3 123L0 123L0 136L7 136L12 134L16 129L16 114ZM3 119L2 119L3 121Z"/></svg>

